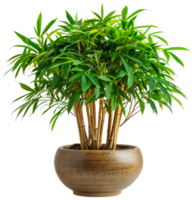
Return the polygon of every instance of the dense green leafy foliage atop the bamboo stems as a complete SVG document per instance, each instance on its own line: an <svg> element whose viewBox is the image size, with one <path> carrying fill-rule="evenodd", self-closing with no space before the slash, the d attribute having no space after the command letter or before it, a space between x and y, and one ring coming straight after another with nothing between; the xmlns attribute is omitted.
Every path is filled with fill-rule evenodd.
<svg viewBox="0 0 194 200"><path fill-rule="evenodd" d="M6 59L9 67L2 75L12 72L14 78L18 78L20 73L30 71L33 77L33 86L18 83L27 93L12 100L13 103L25 100L13 110L17 117L35 115L41 104L49 102L42 114L52 110L48 127L54 132L59 119L72 111L75 100L84 105L105 97L106 114L111 99L113 111L121 105L125 118L127 110L123 101L131 102L129 94L138 100L141 116L145 115L146 105L155 116L159 114L157 104L173 113L172 100L185 110L184 103L175 94L184 99L189 96L174 83L176 71L169 62L173 60L186 69L184 60L174 51L192 50L171 46L169 40L161 36L165 32L154 23L136 25L140 13L150 12L148 8L131 12L126 4L117 14L117 9L106 12L102 2L99 13L88 9L93 15L91 19L80 17L80 10L74 15L66 8L63 11L66 20L56 16L46 24L44 11L39 11L32 25L34 37L12 31L21 42L12 47L22 48L22 51ZM55 25L57 28L53 28ZM159 41L155 42L155 38ZM126 93L118 87L121 80ZM73 90L75 85L78 88ZM91 89L95 92L84 99L85 92Z"/></svg>

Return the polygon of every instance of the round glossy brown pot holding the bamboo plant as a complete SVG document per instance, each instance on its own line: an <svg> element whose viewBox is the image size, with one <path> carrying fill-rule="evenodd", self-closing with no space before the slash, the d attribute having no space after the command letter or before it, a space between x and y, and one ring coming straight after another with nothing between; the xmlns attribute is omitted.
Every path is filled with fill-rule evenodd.
<svg viewBox="0 0 194 200"><path fill-rule="evenodd" d="M53 172L73 196L114 197L134 185L145 168L143 150L117 144L116 150L78 150L60 145L53 155Z"/></svg>

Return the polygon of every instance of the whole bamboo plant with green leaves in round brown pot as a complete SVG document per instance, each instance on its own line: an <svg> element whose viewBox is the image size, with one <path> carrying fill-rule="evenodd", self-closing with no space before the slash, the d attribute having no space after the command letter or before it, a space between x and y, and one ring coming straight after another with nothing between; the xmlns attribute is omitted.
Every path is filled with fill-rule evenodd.
<svg viewBox="0 0 194 200"><path fill-rule="evenodd" d="M174 113L173 103L185 110L176 94L188 95L175 84L170 62L186 68L173 51L192 50L171 46L159 35L164 31L151 32L161 30L154 23L136 25L140 13L151 9L130 12L124 5L119 14L117 9L106 13L102 2L99 13L88 11L94 18L79 17L79 10L72 16L64 9L66 20L56 16L45 25L40 11L32 26L35 37L13 31L22 44L12 47L22 51L6 60L11 67L3 76L33 77L28 84L18 82L26 93L11 101L22 103L13 110L16 118L35 115L46 104L42 113L52 110L48 127L53 133L65 113L73 115L78 143L59 145L53 156L59 182L76 196L119 196L145 167L139 146L119 144L121 127L137 114L145 116L147 106L155 116L165 108ZM54 25L58 28L52 29Z"/></svg>

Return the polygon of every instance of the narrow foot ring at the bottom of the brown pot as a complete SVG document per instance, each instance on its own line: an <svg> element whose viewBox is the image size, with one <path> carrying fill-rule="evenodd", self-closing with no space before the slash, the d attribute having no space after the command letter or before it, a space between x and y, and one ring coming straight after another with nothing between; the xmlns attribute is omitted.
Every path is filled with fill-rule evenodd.
<svg viewBox="0 0 194 200"><path fill-rule="evenodd" d="M106 198L106 197L117 197L123 195L124 192L118 193L79 193L79 192L73 192L71 191L71 195L76 197L88 197L88 198Z"/></svg>

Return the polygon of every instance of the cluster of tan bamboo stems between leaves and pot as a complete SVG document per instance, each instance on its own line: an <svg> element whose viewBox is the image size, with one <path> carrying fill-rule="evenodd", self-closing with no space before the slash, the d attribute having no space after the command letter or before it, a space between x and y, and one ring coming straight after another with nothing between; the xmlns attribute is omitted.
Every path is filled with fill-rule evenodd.
<svg viewBox="0 0 194 200"><path fill-rule="evenodd" d="M123 84L118 86L123 91ZM78 86L75 85L73 89L77 89ZM95 89L92 89L91 92L85 92L84 98L88 98ZM126 93L126 90L124 91ZM99 105L98 105L99 103ZM118 98L117 98L118 103ZM133 118L133 114L138 114L140 106L135 106L137 102L133 101L130 104L131 115L129 117ZM106 116L106 108L104 107L104 98L98 99L90 104L84 105L81 108L81 102L74 102L73 109L75 111L75 124L77 130L78 142L81 145L81 150L99 150L103 145L110 150L116 149L116 144L119 143L121 124L123 121L123 111L121 106L117 105L116 110L113 112L111 107L111 99L109 100L109 114ZM108 123L107 122L108 118ZM88 125L86 127L86 124ZM88 128L88 134L86 132ZM107 128L106 138L105 129ZM106 141L106 143L105 143Z"/></svg>

